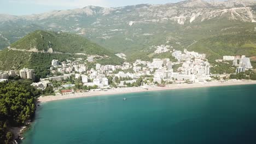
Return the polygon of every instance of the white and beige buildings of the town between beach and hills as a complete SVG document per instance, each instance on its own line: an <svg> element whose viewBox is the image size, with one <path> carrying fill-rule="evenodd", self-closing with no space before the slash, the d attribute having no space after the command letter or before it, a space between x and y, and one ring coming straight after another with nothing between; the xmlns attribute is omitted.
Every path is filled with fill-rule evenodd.
<svg viewBox="0 0 256 144"><path fill-rule="evenodd" d="M53 87L54 95L74 94L90 91L107 92L109 89L141 87L165 87L171 84L182 83L207 83L226 80L230 74L212 74L211 65L206 54L194 51L175 50L172 46L155 46L155 54L167 53L170 58L153 58L152 61L137 59L133 63L124 62L122 65L102 65L94 63L94 57L86 59L73 58L73 60L59 61L53 59L51 62L51 75L39 82L32 83L37 89L44 90L46 87ZM126 59L123 53L117 56ZM242 73L253 69L251 61L246 56L223 56L223 59L216 59L217 63L232 62L235 73ZM93 63L93 64L91 64ZM23 68L20 71L8 70L0 72L0 82L8 81L8 77L20 76L21 79L34 79L33 69ZM225 77L225 79L223 78Z"/></svg>

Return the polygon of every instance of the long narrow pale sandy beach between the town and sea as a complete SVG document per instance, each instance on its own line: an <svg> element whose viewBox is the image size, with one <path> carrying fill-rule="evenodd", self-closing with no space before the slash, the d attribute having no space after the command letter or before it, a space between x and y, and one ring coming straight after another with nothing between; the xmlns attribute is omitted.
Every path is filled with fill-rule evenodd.
<svg viewBox="0 0 256 144"><path fill-rule="evenodd" d="M45 103L48 101L54 100L63 100L63 99L73 99L81 97L92 97L100 95L112 95L112 94L124 94L124 93L137 93L137 92L150 92L150 91L165 91L171 89L185 89L185 88L199 88L199 87L217 87L217 86L235 86L235 85L253 85L256 84L256 81L246 80L246 81L226 81L226 82L201 82L201 83L182 83L182 84L172 84L166 85L166 87L152 87L147 86L147 89L142 87L129 87L129 88L114 88L108 89L108 91L90 91L85 93L74 93L68 95L50 95L50 96L41 96L38 98L39 103Z"/></svg>

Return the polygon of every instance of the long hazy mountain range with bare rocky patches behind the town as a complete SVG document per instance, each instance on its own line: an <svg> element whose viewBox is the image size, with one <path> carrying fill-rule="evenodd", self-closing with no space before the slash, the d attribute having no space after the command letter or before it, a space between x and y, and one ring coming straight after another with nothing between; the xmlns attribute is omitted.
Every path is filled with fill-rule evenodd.
<svg viewBox="0 0 256 144"><path fill-rule="evenodd" d="M0 15L0 47L42 29L82 35L110 51L125 53L130 61L147 58L154 51L150 47L161 44L205 52L210 59L236 54L255 56L255 11L256 2L252 0L188 0Z"/></svg>

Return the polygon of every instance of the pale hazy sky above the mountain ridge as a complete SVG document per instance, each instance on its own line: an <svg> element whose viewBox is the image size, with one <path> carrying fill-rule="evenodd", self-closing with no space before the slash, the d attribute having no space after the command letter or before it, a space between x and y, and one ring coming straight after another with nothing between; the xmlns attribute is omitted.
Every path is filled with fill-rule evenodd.
<svg viewBox="0 0 256 144"><path fill-rule="evenodd" d="M0 14L30 15L52 10L100 7L123 7L135 4L165 4L182 0L0 0Z"/></svg>

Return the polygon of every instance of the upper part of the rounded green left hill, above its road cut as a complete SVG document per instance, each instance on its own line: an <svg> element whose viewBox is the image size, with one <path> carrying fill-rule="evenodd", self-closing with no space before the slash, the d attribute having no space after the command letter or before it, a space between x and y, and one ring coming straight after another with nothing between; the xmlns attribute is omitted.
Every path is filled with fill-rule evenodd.
<svg viewBox="0 0 256 144"><path fill-rule="evenodd" d="M115 57L104 47L76 34L35 31L11 44L9 49L31 52L49 53L83 53L84 55L99 55Z"/></svg>

